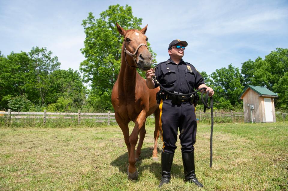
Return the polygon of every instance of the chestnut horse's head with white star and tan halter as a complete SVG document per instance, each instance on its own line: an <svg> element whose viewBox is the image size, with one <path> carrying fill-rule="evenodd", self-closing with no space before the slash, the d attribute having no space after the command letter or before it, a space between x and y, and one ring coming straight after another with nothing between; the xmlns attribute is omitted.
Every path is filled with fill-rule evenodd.
<svg viewBox="0 0 288 191"><path fill-rule="evenodd" d="M141 29L130 29L125 30L116 23L117 29L121 35L124 36L124 48L126 59L133 63L134 67L137 64L141 70L146 71L151 68L152 65L152 54L148 50L147 36L145 36L147 25ZM134 62L134 61L135 62Z"/></svg>

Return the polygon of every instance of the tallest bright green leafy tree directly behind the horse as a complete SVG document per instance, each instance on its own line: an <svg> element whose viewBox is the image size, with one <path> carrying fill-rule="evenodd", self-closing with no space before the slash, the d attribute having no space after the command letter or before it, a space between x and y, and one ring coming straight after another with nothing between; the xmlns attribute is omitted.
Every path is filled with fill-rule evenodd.
<svg viewBox="0 0 288 191"><path fill-rule="evenodd" d="M104 102L110 101L121 65L123 37L116 28L116 22L125 29L141 29L142 18L132 15L131 6L116 4L110 5L98 19L90 12L82 23L86 38L81 49L85 60L80 64L80 71L84 81L91 82L93 97L103 98ZM152 52L151 48L149 50ZM152 52L152 55L155 56L155 53ZM104 95L107 93L109 96Z"/></svg>

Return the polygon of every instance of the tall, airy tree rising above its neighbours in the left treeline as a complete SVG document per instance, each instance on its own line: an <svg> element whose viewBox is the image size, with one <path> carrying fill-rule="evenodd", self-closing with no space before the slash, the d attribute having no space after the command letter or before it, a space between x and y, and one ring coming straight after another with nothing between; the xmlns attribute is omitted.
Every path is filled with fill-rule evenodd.
<svg viewBox="0 0 288 191"><path fill-rule="evenodd" d="M35 78L29 84L30 87L33 86L37 89L41 97L41 104L43 105L47 91L52 84L51 74L59 68L61 63L58 62L57 56L51 57L52 52L47 52L46 47L32 47L29 55L32 59L35 72Z"/></svg>

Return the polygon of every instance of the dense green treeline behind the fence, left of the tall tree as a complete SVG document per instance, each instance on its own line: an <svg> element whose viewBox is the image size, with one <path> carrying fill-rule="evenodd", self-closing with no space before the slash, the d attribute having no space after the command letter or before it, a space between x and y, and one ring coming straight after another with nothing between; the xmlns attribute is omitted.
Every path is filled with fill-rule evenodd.
<svg viewBox="0 0 288 191"><path fill-rule="evenodd" d="M29 53L0 52L0 110L75 111L85 106L87 88L78 71L59 69L58 57L45 48Z"/></svg>

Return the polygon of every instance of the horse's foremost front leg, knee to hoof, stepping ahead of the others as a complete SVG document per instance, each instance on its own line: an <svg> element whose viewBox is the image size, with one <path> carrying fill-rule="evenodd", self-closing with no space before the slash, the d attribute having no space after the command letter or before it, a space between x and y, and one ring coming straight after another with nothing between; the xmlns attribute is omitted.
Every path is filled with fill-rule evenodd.
<svg viewBox="0 0 288 191"><path fill-rule="evenodd" d="M128 179L136 180L138 178L138 172L135 166L136 159L135 159L135 147L138 141L138 135L145 124L146 120L146 111L142 110L138 115L137 119L134 120L135 126L130 135L129 143L131 146L130 156L129 156L129 166L128 166Z"/></svg>

